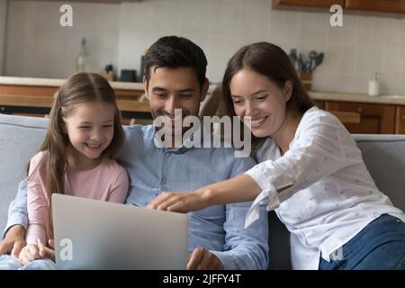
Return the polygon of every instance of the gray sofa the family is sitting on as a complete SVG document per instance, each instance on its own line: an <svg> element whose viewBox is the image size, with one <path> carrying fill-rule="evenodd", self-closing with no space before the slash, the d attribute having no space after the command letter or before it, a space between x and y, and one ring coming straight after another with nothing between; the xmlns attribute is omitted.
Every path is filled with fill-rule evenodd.
<svg viewBox="0 0 405 288"><path fill-rule="evenodd" d="M17 184L23 179L23 168L40 146L47 120L0 114L0 229L7 220L8 204L14 199ZM405 136L355 135L365 164L377 186L392 202L405 210ZM291 269L289 233L269 213L270 267Z"/></svg>

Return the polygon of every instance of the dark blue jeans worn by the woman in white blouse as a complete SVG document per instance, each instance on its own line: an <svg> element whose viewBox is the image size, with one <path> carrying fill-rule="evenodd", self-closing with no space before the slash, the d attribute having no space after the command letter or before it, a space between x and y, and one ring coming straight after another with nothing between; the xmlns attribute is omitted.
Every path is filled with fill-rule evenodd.
<svg viewBox="0 0 405 288"><path fill-rule="evenodd" d="M320 270L405 270L405 223L383 214L340 249L342 260L320 257Z"/></svg>

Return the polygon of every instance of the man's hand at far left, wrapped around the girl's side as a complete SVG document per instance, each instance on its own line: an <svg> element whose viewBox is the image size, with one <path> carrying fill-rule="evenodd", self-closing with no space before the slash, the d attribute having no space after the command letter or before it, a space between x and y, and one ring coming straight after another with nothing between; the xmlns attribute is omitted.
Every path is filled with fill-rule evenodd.
<svg viewBox="0 0 405 288"><path fill-rule="evenodd" d="M25 246L24 235L23 226L14 225L10 228L3 241L0 242L0 255L11 253L12 256L18 258Z"/></svg>

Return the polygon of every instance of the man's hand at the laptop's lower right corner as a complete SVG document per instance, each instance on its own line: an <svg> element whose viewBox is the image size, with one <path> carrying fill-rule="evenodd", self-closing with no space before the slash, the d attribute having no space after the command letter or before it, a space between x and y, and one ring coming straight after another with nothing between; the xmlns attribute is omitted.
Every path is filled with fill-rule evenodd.
<svg viewBox="0 0 405 288"><path fill-rule="evenodd" d="M223 270L223 265L210 251L197 247L188 255L187 270Z"/></svg>

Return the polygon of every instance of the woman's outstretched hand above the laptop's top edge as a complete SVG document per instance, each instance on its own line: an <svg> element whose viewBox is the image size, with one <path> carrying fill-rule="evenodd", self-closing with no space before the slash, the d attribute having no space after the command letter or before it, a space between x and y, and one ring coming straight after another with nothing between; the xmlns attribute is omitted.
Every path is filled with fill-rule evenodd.
<svg viewBox="0 0 405 288"><path fill-rule="evenodd" d="M149 209L188 212L198 211L209 206L207 193L202 191L191 192L164 192L149 202Z"/></svg>

